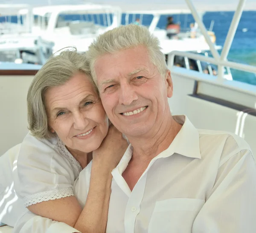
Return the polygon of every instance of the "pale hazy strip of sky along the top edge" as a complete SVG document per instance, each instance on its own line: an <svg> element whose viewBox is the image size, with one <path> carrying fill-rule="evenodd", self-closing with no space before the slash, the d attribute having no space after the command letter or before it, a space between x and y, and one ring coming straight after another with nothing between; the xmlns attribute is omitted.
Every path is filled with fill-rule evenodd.
<svg viewBox="0 0 256 233"><path fill-rule="evenodd" d="M186 9L185 0L0 0L0 4L30 4L32 6L56 4L103 3L120 6L124 10ZM235 10L239 0L192 0L196 9L207 11ZM256 0L247 0L246 10L256 10Z"/></svg>

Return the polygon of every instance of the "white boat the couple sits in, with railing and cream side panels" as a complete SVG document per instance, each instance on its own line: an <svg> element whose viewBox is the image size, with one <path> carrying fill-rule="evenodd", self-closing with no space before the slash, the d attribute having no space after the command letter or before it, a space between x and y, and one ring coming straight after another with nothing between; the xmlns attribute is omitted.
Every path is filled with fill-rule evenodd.
<svg viewBox="0 0 256 233"><path fill-rule="evenodd" d="M245 0L239 0L221 54L202 26L203 23L191 0L186 0L186 3L209 45L213 58L183 51L172 51L168 54L168 67L174 84L173 97L169 99L171 112L173 115L187 115L199 129L224 130L241 136L250 145L256 158L256 86L226 80L223 72L226 66L256 73L256 66L227 60ZM174 66L175 56L215 64L218 67L218 75L207 75ZM19 144L28 132L26 94L33 78L31 71L0 71L0 106L1 112L4 112L0 115L0 155ZM12 232L10 227L2 227L0 230L2 233Z"/></svg>

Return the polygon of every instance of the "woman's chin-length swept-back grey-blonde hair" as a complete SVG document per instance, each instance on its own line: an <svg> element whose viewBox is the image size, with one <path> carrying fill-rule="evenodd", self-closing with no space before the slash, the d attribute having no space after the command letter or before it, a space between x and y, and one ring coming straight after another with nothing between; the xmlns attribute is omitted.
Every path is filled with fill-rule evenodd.
<svg viewBox="0 0 256 233"><path fill-rule="evenodd" d="M64 85L78 72L84 73L95 85L86 56L72 48L57 56L53 55L35 75L27 95L27 110L28 128L36 138L49 139L55 136L48 127L46 91L51 87Z"/></svg>

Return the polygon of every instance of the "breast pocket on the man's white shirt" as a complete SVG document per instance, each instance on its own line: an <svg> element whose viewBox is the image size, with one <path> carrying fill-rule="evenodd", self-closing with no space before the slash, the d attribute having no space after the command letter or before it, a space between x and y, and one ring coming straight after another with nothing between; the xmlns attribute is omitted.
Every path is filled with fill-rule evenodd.
<svg viewBox="0 0 256 233"><path fill-rule="evenodd" d="M194 198L157 201L148 225L148 233L191 233L192 224L204 202Z"/></svg>

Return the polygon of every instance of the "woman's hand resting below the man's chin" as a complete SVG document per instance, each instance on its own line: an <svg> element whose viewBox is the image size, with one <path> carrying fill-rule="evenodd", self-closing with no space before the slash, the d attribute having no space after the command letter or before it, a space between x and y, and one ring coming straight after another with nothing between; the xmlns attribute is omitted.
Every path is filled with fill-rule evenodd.
<svg viewBox="0 0 256 233"><path fill-rule="evenodd" d="M101 167L113 170L119 164L127 147L128 143L122 133L111 124L102 144L93 151L93 163L99 163Z"/></svg>

